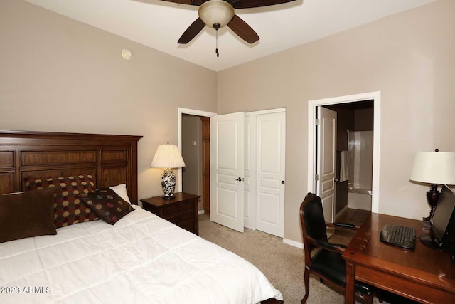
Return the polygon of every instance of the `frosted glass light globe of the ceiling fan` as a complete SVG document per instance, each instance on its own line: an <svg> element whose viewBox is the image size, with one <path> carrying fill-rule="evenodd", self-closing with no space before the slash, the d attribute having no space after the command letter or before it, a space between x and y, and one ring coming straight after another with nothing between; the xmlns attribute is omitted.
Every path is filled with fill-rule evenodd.
<svg viewBox="0 0 455 304"><path fill-rule="evenodd" d="M206 26L223 28L234 16L234 8L224 0L209 0L199 6L198 14Z"/></svg>

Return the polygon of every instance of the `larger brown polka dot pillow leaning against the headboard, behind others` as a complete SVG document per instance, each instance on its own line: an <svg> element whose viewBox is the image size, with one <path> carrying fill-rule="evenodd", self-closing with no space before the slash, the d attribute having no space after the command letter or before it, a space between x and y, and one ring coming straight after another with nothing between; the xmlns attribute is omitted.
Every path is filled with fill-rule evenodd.
<svg viewBox="0 0 455 304"><path fill-rule="evenodd" d="M50 177L48 179L27 177L25 182L27 191L57 187L57 190L54 192L56 228L98 219L96 214L80 200L81 194L88 194L95 191L95 183L93 182L92 175Z"/></svg>

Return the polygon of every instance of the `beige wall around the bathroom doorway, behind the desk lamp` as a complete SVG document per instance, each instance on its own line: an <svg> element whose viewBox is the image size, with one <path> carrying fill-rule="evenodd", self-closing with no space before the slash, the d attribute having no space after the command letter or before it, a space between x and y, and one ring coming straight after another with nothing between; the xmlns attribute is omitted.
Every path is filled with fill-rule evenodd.
<svg viewBox="0 0 455 304"><path fill-rule="evenodd" d="M284 238L301 242L309 100L381 92L380 213L428 216L414 152L455 151L455 1L390 16L218 73L218 113L287 108ZM233 89L235 88L235 89Z"/></svg>

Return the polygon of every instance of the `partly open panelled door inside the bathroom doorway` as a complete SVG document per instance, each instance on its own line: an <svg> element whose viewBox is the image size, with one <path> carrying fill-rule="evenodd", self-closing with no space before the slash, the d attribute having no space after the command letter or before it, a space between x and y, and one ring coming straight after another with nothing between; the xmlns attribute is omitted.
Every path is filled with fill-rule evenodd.
<svg viewBox="0 0 455 304"><path fill-rule="evenodd" d="M316 195L321 197L324 219L333 222L336 202L336 112L318 107L318 123L319 125L316 125Z"/></svg>

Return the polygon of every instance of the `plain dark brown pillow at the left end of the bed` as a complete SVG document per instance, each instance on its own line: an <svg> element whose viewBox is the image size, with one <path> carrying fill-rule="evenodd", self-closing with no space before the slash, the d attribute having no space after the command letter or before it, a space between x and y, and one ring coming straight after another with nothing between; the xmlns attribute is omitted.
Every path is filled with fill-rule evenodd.
<svg viewBox="0 0 455 304"><path fill-rule="evenodd" d="M54 225L55 189L0 195L0 243L57 234Z"/></svg>

